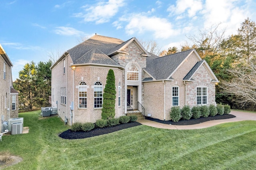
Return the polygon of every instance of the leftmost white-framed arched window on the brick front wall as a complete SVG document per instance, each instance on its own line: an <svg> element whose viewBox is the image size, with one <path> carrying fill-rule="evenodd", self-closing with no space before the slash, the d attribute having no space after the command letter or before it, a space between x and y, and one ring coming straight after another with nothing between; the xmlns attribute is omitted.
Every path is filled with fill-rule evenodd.
<svg viewBox="0 0 256 170"><path fill-rule="evenodd" d="M78 96L78 107L87 108L87 85L84 81L81 81L78 85Z"/></svg>

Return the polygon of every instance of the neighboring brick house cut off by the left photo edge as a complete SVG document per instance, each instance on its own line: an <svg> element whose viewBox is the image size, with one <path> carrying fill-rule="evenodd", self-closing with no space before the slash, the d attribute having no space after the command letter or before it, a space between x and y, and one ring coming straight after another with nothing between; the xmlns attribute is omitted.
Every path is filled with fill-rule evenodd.
<svg viewBox="0 0 256 170"><path fill-rule="evenodd" d="M0 44L0 116L3 121L18 117L18 91L13 88L12 62Z"/></svg>

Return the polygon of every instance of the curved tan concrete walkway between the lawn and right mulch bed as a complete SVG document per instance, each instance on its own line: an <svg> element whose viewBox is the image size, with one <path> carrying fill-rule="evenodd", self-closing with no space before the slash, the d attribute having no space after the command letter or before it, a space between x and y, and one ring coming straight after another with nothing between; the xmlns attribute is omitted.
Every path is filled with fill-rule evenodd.
<svg viewBox="0 0 256 170"><path fill-rule="evenodd" d="M221 120L214 120L214 121L207 121L203 123L199 123L196 125L167 125L163 123L157 123L154 121L149 120L138 120L137 122L141 123L142 125L147 125L150 127L156 128L165 128L165 129L198 129L198 128L207 128L212 127L221 123L227 122L238 122L238 121L256 121L256 113L249 113L249 112L242 112L242 111L231 111L231 115L236 117L230 119L221 119Z"/></svg>

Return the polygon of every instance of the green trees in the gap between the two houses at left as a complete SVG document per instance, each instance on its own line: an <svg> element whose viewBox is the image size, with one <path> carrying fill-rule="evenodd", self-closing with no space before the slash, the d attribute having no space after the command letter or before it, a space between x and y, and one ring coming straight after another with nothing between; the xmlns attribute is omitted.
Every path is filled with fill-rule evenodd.
<svg viewBox="0 0 256 170"><path fill-rule="evenodd" d="M51 95L51 70L52 61L26 63L19 78L13 84L19 91L19 108L32 110L38 107L48 107Z"/></svg>

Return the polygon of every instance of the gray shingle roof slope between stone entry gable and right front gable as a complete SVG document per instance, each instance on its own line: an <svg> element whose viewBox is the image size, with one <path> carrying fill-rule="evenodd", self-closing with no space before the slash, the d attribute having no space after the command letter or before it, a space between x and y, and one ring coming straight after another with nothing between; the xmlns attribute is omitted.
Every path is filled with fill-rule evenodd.
<svg viewBox="0 0 256 170"><path fill-rule="evenodd" d="M190 49L157 58L154 56L147 57L145 70L157 80L167 79L193 50Z"/></svg>

